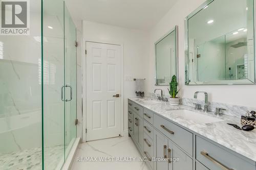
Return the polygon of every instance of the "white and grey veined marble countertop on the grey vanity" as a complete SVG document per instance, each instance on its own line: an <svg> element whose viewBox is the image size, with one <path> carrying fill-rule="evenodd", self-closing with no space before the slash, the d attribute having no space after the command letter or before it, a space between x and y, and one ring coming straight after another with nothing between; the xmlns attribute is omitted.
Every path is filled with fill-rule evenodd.
<svg viewBox="0 0 256 170"><path fill-rule="evenodd" d="M256 162L256 129L247 132L227 125L227 123L231 123L242 127L238 117L228 115L217 116L214 112L204 113L203 111L196 111L204 115L207 114L208 116L223 119L221 122L199 124L186 119L186 117L180 114L172 113L172 110L177 109L195 111L192 107L184 105L171 106L164 104L164 102L162 104L152 104L148 101L141 101L141 98L130 100Z"/></svg>

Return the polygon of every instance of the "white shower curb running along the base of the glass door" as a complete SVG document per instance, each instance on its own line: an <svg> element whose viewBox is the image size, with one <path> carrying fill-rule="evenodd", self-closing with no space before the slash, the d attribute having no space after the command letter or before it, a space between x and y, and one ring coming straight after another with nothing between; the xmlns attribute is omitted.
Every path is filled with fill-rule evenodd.
<svg viewBox="0 0 256 170"><path fill-rule="evenodd" d="M78 145L80 143L80 139L81 139L80 137L75 139L73 147L70 150L69 156L68 156L65 164L62 166L61 170L70 170L71 169L73 160L74 160L75 155L76 155L76 151L77 151Z"/></svg>

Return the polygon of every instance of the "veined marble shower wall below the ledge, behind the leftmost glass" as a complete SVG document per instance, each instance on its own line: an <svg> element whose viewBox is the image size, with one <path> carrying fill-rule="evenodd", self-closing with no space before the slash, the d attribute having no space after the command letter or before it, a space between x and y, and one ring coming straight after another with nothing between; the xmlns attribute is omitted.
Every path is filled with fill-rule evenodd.
<svg viewBox="0 0 256 170"><path fill-rule="evenodd" d="M38 74L38 64L0 60L0 155L41 145Z"/></svg>

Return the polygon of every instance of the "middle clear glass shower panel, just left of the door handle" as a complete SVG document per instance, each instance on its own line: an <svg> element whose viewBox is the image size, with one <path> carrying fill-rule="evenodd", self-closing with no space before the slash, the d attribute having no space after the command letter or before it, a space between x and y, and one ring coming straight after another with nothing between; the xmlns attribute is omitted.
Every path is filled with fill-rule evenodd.
<svg viewBox="0 0 256 170"><path fill-rule="evenodd" d="M44 167L60 169L65 162L65 50L63 0L44 0L43 94ZM61 98L62 93L62 98Z"/></svg>

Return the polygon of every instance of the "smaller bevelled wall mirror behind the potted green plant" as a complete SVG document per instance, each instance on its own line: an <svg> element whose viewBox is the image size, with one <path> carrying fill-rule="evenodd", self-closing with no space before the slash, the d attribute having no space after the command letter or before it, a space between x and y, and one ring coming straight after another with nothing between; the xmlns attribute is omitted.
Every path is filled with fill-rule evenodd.
<svg viewBox="0 0 256 170"><path fill-rule="evenodd" d="M178 78L177 35L176 26L155 43L156 86L169 85L173 75Z"/></svg>

